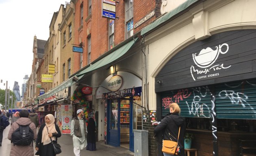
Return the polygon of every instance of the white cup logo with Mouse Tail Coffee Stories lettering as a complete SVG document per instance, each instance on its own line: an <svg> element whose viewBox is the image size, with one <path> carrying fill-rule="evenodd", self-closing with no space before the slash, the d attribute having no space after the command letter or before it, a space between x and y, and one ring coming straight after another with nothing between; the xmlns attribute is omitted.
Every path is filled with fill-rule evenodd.
<svg viewBox="0 0 256 156"><path fill-rule="evenodd" d="M223 46L226 46L226 50L224 52L221 50ZM231 67L231 65L226 67L224 66L223 63L210 67L218 59L219 54L226 54L228 52L229 46L227 43L223 43L219 46L216 46L215 48L216 50L213 50L212 48L207 47L206 49L202 49L198 55L197 53L193 54L194 63L197 65L197 67L203 68L203 69L195 69L195 67L191 65L190 73L193 80L196 80L195 79L196 76L194 76L195 74L197 75L204 74L204 75L197 76L196 77L197 80L202 78L210 78L213 76L219 76L220 74L219 72L214 74L208 74L209 72L215 72L215 71L217 72L221 69L227 69Z"/></svg>

